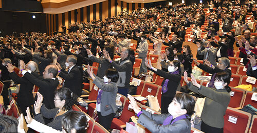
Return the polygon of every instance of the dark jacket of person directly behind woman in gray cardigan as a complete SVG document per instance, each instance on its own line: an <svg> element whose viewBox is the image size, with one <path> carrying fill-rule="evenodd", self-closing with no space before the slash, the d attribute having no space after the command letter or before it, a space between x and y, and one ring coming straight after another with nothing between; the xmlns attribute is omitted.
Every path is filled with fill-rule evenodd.
<svg viewBox="0 0 257 133"><path fill-rule="evenodd" d="M98 70L97 70L97 76L102 79L103 76L105 75L105 71L107 69L109 69L110 66L111 66L108 59L105 59L104 56L101 56L100 58L97 58L94 55L89 57L89 59L93 62L99 63Z"/></svg>

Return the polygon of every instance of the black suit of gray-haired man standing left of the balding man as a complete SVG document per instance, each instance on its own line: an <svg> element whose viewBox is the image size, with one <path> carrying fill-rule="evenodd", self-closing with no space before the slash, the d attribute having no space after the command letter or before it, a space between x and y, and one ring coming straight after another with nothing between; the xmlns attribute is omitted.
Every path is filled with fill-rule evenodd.
<svg viewBox="0 0 257 133"><path fill-rule="evenodd" d="M27 107L33 105L34 103L32 94L34 84L29 82L24 77L19 77L15 72L10 73L9 77L13 80L14 83L21 84L20 92L17 95L17 103L21 107L23 115L26 116Z"/></svg>

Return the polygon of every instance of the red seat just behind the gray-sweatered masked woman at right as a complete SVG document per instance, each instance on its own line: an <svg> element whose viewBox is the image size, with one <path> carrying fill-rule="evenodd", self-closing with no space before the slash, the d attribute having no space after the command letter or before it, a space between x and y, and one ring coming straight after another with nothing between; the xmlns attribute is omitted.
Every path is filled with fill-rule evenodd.
<svg viewBox="0 0 257 133"><path fill-rule="evenodd" d="M231 87L229 107L241 107L244 101L245 90Z"/></svg>

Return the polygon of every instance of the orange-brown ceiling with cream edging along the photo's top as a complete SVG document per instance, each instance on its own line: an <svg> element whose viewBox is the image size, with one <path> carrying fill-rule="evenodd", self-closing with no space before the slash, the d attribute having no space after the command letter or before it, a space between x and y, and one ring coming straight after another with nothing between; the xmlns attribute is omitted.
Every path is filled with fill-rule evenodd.
<svg viewBox="0 0 257 133"><path fill-rule="evenodd" d="M58 14L67 11L79 9L106 0L42 0L41 4L44 8L44 13ZM126 3L152 3L163 0L124 0Z"/></svg>

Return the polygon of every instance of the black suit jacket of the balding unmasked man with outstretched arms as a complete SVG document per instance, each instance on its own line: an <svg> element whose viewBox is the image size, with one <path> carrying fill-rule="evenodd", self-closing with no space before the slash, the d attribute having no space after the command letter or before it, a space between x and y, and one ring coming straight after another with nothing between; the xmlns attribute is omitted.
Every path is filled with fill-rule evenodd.
<svg viewBox="0 0 257 133"><path fill-rule="evenodd" d="M58 78L56 79L44 79L42 76L31 72L24 74L27 80L29 80L32 84L39 86L39 92L43 95L44 100L43 103L48 109L55 108L54 105L54 91L56 91L57 86L59 85ZM35 96L35 100L38 99L38 96Z"/></svg>

